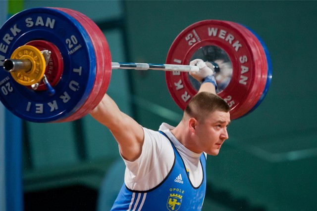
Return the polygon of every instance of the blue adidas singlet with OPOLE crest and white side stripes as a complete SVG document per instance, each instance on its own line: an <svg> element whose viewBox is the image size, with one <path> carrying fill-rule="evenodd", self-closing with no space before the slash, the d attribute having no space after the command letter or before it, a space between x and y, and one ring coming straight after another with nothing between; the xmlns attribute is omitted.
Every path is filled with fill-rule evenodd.
<svg viewBox="0 0 317 211"><path fill-rule="evenodd" d="M165 133L159 131L167 137ZM169 139L169 138L168 138ZM166 178L148 191L130 190L125 184L111 211L200 211L206 192L206 157L200 157L203 181L196 188L189 180L185 164L169 139L174 150L174 164Z"/></svg>

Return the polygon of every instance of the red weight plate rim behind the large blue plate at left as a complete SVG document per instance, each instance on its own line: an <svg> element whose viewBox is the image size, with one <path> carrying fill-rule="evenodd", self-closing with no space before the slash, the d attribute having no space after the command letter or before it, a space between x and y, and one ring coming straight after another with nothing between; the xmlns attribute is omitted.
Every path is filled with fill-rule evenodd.
<svg viewBox="0 0 317 211"><path fill-rule="evenodd" d="M87 31L96 53L96 79L90 96L73 115L58 122L69 122L80 119L94 109L106 93L111 77L111 54L106 38L100 28L87 16L72 9L56 8L75 18Z"/></svg>

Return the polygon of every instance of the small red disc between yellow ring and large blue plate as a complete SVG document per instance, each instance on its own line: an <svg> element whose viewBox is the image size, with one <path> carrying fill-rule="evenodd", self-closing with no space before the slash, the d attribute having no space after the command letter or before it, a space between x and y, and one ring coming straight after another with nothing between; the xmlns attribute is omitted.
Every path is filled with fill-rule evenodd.
<svg viewBox="0 0 317 211"><path fill-rule="evenodd" d="M26 45L32 45L39 50L50 50L51 51L51 57L48 62L48 66L45 70L45 76L47 77L49 83L52 87L54 87L60 80L62 74L63 74L63 57L61 53L59 52L56 45L54 45L52 42L44 41L44 40L36 40L26 43ZM31 86L28 86L31 88ZM43 91L46 90L46 85L41 82L39 87L36 89L37 91Z"/></svg>

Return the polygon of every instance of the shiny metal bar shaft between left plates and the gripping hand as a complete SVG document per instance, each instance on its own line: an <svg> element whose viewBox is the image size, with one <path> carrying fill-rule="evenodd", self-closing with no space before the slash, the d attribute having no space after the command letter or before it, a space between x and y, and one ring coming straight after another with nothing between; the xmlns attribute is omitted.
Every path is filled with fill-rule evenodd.
<svg viewBox="0 0 317 211"><path fill-rule="evenodd" d="M112 62L112 69L131 69L131 70L161 70L161 71L180 71L198 72L198 66L178 65L178 64L151 64L151 63L122 63Z"/></svg>

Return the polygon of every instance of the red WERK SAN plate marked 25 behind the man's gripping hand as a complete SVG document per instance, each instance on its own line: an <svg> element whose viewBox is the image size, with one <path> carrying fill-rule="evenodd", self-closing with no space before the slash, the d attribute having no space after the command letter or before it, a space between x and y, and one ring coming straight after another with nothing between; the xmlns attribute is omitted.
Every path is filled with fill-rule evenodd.
<svg viewBox="0 0 317 211"><path fill-rule="evenodd" d="M230 118L237 119L254 106L242 107L246 106L245 101L250 103L255 90L262 84L262 54L259 53L254 38L250 37L251 35L245 35L244 30L236 23L200 21L177 36L168 51L166 63L188 65L195 52L205 46L215 46L225 52L232 65L232 75L230 82L217 94L230 106ZM166 72L165 77L172 98L184 110L191 97L197 93L189 75L173 71Z"/></svg>

